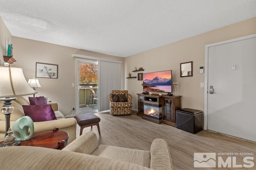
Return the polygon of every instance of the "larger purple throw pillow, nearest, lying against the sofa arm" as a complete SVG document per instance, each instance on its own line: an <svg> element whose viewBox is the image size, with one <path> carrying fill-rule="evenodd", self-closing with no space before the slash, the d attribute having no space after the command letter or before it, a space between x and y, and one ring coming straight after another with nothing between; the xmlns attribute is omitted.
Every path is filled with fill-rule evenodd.
<svg viewBox="0 0 256 170"><path fill-rule="evenodd" d="M29 116L33 122L52 121L56 119L52 110L52 105L23 105L26 116Z"/></svg>

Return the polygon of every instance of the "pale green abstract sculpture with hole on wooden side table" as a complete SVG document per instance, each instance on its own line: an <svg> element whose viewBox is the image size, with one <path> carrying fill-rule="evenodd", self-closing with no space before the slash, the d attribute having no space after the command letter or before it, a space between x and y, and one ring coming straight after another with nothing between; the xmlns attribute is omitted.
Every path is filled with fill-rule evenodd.
<svg viewBox="0 0 256 170"><path fill-rule="evenodd" d="M28 135L28 128L30 128L30 134ZM12 130L16 137L16 140L28 140L34 133L34 123L28 116L24 116L15 121Z"/></svg>

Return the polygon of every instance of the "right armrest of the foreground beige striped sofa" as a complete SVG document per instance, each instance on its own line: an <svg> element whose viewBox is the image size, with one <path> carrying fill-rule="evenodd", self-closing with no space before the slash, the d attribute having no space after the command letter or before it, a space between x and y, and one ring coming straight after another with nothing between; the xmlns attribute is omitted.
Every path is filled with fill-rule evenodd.
<svg viewBox="0 0 256 170"><path fill-rule="evenodd" d="M172 158L164 139L155 139L150 147L150 168L154 170L173 170Z"/></svg>

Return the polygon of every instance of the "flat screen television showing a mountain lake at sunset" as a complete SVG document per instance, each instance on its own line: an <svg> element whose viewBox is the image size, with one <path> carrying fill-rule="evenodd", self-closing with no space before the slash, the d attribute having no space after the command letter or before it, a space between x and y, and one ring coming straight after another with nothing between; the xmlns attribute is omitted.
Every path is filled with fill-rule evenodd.
<svg viewBox="0 0 256 170"><path fill-rule="evenodd" d="M172 70L143 73L143 91L172 93Z"/></svg>

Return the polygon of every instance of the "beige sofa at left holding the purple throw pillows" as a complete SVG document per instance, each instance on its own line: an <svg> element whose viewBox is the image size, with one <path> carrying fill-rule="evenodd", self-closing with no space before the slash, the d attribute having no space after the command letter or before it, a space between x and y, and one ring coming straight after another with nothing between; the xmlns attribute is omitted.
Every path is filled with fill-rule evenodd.
<svg viewBox="0 0 256 170"><path fill-rule="evenodd" d="M44 122L34 122L34 132L41 132L46 130L52 130L58 127L59 130L63 130L69 134L68 143L76 139L76 119L66 118L58 109L58 103L51 102L48 103L52 105L52 109L57 117L57 120L44 121ZM14 111L10 116L10 127L12 128L14 122L24 117L24 111L22 105L30 105L30 103L24 97L17 97L16 100L12 101ZM0 101L0 108L2 108L3 102ZM5 116L0 113L0 141L4 140L5 134Z"/></svg>

